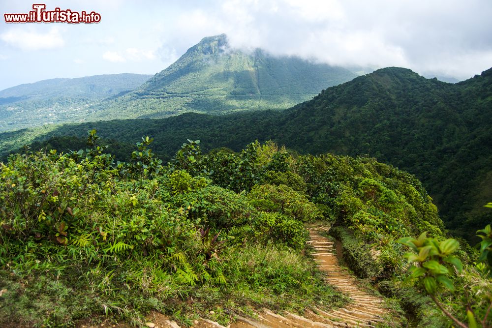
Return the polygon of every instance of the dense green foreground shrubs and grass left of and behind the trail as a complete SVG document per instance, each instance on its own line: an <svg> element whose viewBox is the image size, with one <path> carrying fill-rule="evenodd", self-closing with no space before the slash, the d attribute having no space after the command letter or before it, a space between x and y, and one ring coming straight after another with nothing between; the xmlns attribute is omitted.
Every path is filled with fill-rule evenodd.
<svg viewBox="0 0 492 328"><path fill-rule="evenodd" d="M373 158L297 155L272 142L204 153L189 141L163 165L147 137L115 163L98 143L91 130L86 150L0 164L1 325L109 314L137 324L153 309L227 322L251 306L331 307L346 300L303 255L305 223L348 229L371 259L361 275L394 289L406 267L396 239L444 237L422 184ZM416 318L430 309L421 302Z"/></svg>

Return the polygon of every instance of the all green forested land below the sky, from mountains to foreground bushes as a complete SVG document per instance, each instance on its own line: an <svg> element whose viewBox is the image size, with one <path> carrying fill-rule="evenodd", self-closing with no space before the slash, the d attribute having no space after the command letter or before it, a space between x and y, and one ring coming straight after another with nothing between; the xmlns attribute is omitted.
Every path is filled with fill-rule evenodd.
<svg viewBox="0 0 492 328"><path fill-rule="evenodd" d="M492 68L354 77L219 35L153 77L1 91L0 326L358 327L350 274L369 327L492 327Z"/></svg>

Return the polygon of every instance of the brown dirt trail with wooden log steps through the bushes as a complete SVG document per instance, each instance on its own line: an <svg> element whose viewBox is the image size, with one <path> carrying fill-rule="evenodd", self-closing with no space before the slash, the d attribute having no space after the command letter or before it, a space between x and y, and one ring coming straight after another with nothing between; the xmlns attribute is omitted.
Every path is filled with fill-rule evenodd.
<svg viewBox="0 0 492 328"><path fill-rule="evenodd" d="M338 263L336 247L330 239L322 236L328 228L308 228L309 240L307 243L314 248L312 255L318 262L318 268L326 274L327 282L347 295L351 302L343 308L325 312L321 309L306 310L304 316L284 312L278 315L268 309L257 311L257 319L238 317L230 328L303 328L303 327L375 327L383 321L382 316L389 313L383 306L383 299L366 293L358 286L357 281L346 273ZM148 318L148 327L180 328L174 321L159 313ZM194 328L225 328L210 320L199 320L193 323Z"/></svg>

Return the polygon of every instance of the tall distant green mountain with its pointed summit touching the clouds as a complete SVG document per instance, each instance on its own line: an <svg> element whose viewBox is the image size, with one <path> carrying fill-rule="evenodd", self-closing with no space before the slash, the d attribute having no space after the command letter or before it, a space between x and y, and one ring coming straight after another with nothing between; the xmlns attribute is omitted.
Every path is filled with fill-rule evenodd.
<svg viewBox="0 0 492 328"><path fill-rule="evenodd" d="M93 106L94 119L165 118L285 109L356 75L342 67L261 49L233 49L225 34L206 37L140 88Z"/></svg>

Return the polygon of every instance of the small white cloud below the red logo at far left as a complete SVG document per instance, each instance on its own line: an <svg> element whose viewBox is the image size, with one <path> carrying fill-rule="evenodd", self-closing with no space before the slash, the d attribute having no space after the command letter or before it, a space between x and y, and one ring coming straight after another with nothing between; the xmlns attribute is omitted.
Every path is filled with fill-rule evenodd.
<svg viewBox="0 0 492 328"><path fill-rule="evenodd" d="M0 34L5 43L22 50L40 50L62 47L65 42L58 27L42 33L22 28L11 29Z"/></svg>

